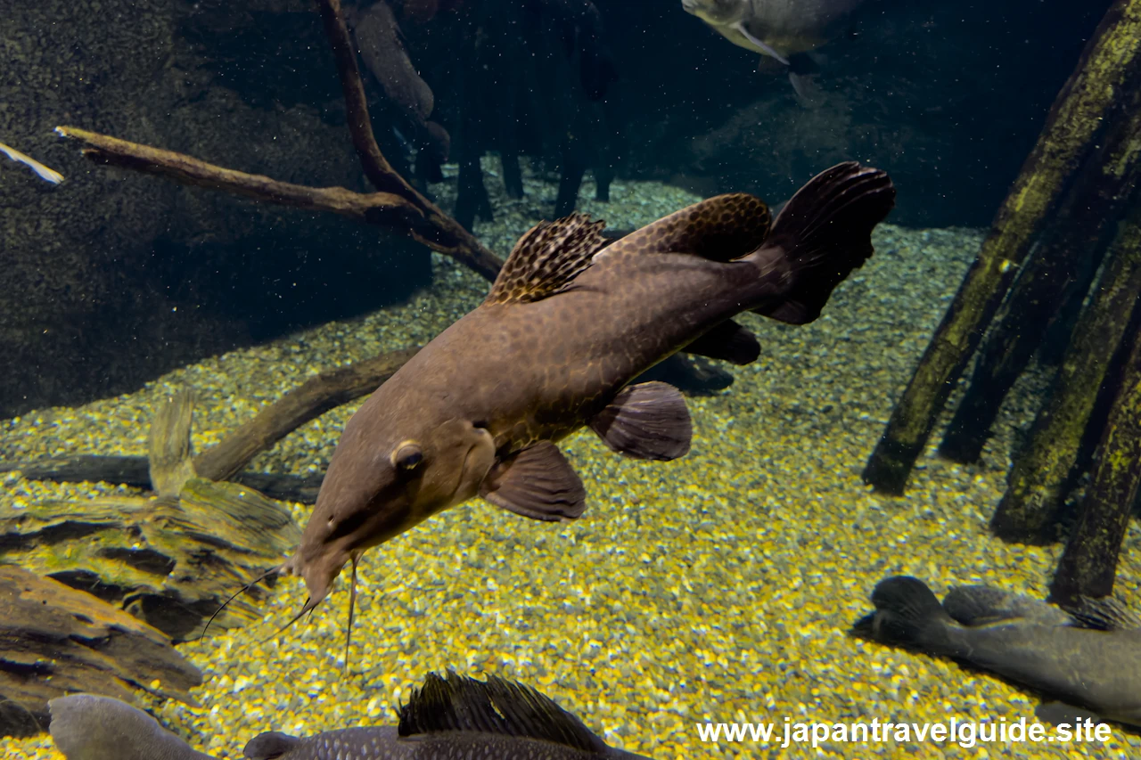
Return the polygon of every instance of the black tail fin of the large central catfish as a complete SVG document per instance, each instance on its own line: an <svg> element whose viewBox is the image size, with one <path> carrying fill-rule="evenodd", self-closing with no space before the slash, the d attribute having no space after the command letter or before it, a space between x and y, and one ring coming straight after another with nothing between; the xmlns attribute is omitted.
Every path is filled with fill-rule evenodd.
<svg viewBox="0 0 1141 760"><path fill-rule="evenodd" d="M796 191L772 223L762 260L783 256L785 297L753 309L790 324L820 315L832 290L872 256L872 231L896 204L887 172L855 161L836 164Z"/></svg>

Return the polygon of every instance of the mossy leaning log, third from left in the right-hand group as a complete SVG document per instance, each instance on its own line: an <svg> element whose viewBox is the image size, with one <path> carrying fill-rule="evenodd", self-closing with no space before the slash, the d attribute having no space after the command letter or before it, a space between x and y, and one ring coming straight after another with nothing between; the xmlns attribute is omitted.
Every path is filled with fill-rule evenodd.
<svg viewBox="0 0 1141 760"><path fill-rule="evenodd" d="M1134 322L1139 293L1141 211L1134 211L1106 254L1098 290L1078 320L1029 443L1011 469L1006 493L990 522L998 536L1030 543L1055 539L1052 526L1102 383Z"/></svg>

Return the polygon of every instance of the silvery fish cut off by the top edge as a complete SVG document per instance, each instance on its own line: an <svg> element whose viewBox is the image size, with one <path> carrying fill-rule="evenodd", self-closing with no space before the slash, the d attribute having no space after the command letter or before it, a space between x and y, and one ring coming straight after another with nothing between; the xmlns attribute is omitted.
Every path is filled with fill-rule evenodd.
<svg viewBox="0 0 1141 760"><path fill-rule="evenodd" d="M840 37L865 0L681 0L681 7L727 40L779 60L801 102L816 102L807 55Z"/></svg>

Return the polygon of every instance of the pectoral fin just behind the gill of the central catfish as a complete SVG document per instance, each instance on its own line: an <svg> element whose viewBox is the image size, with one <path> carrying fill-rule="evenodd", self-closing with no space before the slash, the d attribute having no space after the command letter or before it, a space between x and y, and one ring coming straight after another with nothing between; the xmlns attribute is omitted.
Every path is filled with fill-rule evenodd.
<svg viewBox="0 0 1141 760"><path fill-rule="evenodd" d="M582 480L549 440L497 462L480 484L479 495L536 520L574 519L586 509Z"/></svg>

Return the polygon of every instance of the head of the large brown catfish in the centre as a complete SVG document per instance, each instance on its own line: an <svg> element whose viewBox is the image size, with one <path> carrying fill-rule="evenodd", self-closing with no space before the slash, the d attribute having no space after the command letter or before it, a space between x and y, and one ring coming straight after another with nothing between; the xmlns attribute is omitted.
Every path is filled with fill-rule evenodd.
<svg viewBox="0 0 1141 760"><path fill-rule="evenodd" d="M400 404L385 413L386 396L373 394L349 420L301 545L281 568L305 579L309 600L301 614L327 596L346 563L355 567L365 549L475 496L495 463L494 438L485 428L454 418L418 420L413 407Z"/></svg>

